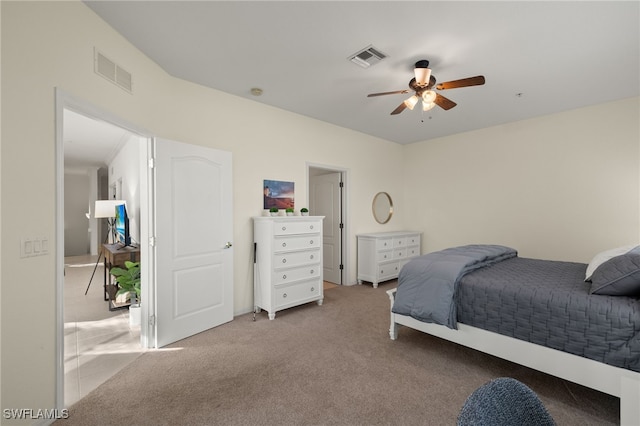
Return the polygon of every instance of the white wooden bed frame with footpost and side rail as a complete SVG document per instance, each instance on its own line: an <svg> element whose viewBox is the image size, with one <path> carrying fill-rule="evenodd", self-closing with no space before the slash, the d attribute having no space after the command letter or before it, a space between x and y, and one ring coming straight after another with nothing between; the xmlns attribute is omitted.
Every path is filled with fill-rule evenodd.
<svg viewBox="0 0 640 426"><path fill-rule="evenodd" d="M388 290L391 307L396 289ZM458 323L453 330L391 312L391 340L404 325L620 398L620 424L640 425L640 373Z"/></svg>

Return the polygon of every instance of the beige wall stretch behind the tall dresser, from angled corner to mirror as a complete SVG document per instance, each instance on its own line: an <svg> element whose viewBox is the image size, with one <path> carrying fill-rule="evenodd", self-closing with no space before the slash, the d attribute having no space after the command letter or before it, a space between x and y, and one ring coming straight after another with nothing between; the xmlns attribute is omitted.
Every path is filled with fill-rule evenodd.
<svg viewBox="0 0 640 426"><path fill-rule="evenodd" d="M178 90L172 98L172 120L180 128L168 126L158 133L233 152L236 312L248 312L253 304L251 217L262 213L264 179L295 182L300 208L308 200L307 162L348 169L352 264L348 283L355 282L355 234L402 228L402 214L387 227L376 224L370 214L378 191L397 194L402 202L401 146L184 81L174 85Z"/></svg>

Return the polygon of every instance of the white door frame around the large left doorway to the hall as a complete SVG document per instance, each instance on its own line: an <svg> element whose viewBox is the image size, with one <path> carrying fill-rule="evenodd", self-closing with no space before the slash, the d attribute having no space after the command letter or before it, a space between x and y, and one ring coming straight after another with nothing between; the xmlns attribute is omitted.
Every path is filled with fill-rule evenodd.
<svg viewBox="0 0 640 426"><path fill-rule="evenodd" d="M134 125L131 124L117 116L112 115L111 113L102 110L99 107L91 105L90 103L78 99L73 95L56 88L55 90L55 122L56 122L56 213L55 213L55 222L56 222L56 408L63 409L64 406L64 140L63 140L63 117L64 110L72 110L79 114L82 114L87 117L91 117L93 119L104 121L107 123L111 123L114 126L121 127L130 131L131 133L135 133L142 138L147 138L148 140L152 140L153 135ZM141 150L144 151L144 154L140 156L140 167L141 170L147 170L147 154L146 151L149 149L149 143L147 146L141 147ZM142 191L148 190L147 182L143 182L145 179L141 179L140 182L140 190ZM146 257L149 255L148 253L148 232L149 232L149 209L151 208L148 197L140 197L140 258L141 261L145 261ZM143 265L148 264L149 262L142 263ZM142 271L142 285L149 287L149 270L148 268L143 268ZM149 299L150 291L145 291L142 293L142 305L150 306L151 299ZM148 339L149 333L149 321L148 313L145 313L145 310L142 311L142 324L140 329L140 343L143 347L149 347L151 340ZM146 318L146 319L145 319Z"/></svg>

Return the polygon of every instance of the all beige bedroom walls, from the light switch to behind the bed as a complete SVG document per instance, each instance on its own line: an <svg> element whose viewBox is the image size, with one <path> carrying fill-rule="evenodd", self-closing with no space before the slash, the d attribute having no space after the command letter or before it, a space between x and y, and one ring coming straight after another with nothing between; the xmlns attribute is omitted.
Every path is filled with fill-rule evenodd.
<svg viewBox="0 0 640 426"><path fill-rule="evenodd" d="M253 303L262 180L296 182L302 207L307 162L348 170L350 283L360 232L411 228L425 251L487 241L582 261L638 241L637 98L403 147L174 79L79 2L0 7L1 408L55 406L55 88L150 134L233 153L236 312ZM133 74L133 95L94 74L94 47ZM394 198L386 226L371 217L378 191ZM51 254L21 259L30 235L49 237Z"/></svg>

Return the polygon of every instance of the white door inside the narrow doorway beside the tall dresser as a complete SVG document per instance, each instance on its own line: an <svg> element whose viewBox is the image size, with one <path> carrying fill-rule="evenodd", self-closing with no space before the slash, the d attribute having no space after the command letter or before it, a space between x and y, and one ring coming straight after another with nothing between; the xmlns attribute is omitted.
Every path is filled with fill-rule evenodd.
<svg viewBox="0 0 640 426"><path fill-rule="evenodd" d="M335 284L342 284L341 181L340 173L330 173L314 176L309 185L309 208L314 215L324 216L323 278Z"/></svg>

